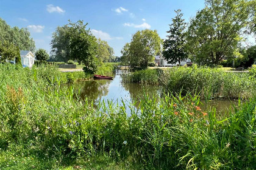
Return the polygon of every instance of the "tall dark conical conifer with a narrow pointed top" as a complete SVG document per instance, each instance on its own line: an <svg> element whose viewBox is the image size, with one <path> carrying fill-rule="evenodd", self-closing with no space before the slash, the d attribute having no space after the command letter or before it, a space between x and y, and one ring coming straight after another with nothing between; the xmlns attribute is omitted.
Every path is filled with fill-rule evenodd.
<svg viewBox="0 0 256 170"><path fill-rule="evenodd" d="M170 24L170 30L167 32L169 35L168 39L163 42L163 57L168 61L169 64L175 64L177 62L187 58L185 52L185 19L182 19L183 13L181 10L176 10L175 18L172 18L172 24Z"/></svg>

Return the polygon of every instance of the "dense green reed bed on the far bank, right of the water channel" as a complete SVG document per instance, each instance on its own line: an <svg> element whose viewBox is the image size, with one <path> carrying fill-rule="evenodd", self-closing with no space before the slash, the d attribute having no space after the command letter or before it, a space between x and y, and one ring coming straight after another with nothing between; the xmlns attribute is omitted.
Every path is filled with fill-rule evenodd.
<svg viewBox="0 0 256 170"><path fill-rule="evenodd" d="M232 73L208 67L173 67L141 70L128 75L124 81L160 84L165 92L201 97L252 98L256 94L254 72Z"/></svg>

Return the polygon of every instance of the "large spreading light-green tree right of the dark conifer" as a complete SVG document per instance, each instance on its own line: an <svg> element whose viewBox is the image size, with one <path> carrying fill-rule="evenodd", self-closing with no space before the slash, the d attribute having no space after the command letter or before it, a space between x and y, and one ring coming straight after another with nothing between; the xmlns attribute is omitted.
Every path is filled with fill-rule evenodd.
<svg viewBox="0 0 256 170"><path fill-rule="evenodd" d="M239 56L242 30L249 24L251 10L246 0L206 0L188 27L187 50L198 64L219 64Z"/></svg>

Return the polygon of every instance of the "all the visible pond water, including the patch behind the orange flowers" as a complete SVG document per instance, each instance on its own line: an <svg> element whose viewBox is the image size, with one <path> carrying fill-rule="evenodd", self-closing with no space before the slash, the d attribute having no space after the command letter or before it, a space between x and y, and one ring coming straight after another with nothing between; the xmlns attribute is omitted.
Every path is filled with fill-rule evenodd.
<svg viewBox="0 0 256 170"><path fill-rule="evenodd" d="M138 106L140 98L144 98L144 95L149 97L157 96L160 97L161 89L159 86L152 85L142 85L139 83L123 83L122 72L117 72L114 75L113 80L90 80L90 81L79 81L74 84L74 91L76 94L85 100L93 102L94 106L97 106L99 102L105 101L106 106L107 101L112 101L114 104L129 106L130 103L135 103ZM216 112L220 115L225 114L233 108L233 106L238 106L237 100L211 100L205 102L201 100L201 109L208 111L213 107L216 108ZM130 108L126 107L126 112L130 113Z"/></svg>

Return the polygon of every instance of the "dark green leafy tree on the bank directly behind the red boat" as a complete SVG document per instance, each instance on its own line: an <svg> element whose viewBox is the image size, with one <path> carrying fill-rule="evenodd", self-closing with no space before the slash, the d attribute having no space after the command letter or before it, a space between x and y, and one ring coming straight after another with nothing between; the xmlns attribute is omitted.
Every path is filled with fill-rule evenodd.
<svg viewBox="0 0 256 170"><path fill-rule="evenodd" d="M70 43L68 49L74 60L82 61L85 64L85 72L95 73L98 69L98 59L96 58L97 38L93 36L90 29L86 29L87 25L80 20L75 23L69 21L68 36Z"/></svg>

